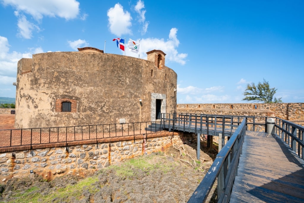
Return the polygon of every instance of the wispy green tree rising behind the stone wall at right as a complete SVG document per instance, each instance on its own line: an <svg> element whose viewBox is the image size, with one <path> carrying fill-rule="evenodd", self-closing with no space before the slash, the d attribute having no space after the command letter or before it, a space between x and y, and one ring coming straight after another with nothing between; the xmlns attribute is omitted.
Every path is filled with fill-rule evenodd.
<svg viewBox="0 0 304 203"><path fill-rule="evenodd" d="M268 81L263 79L263 83L259 82L257 86L255 86L254 82L251 84L247 84L245 92L243 93L245 98L243 100L246 101L257 101L264 103L282 103L282 98L274 98L277 89L270 88ZM272 101L273 99L273 101Z"/></svg>

